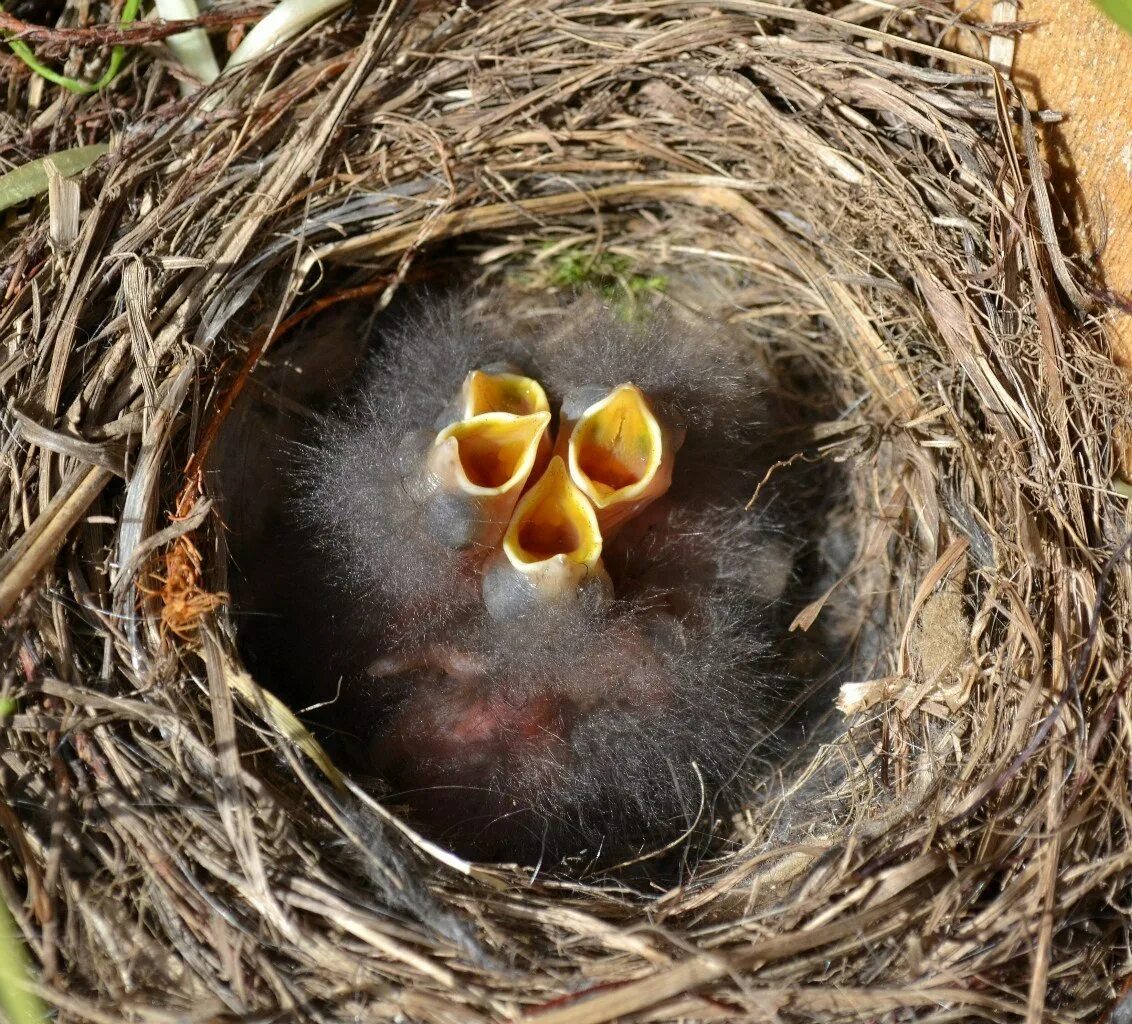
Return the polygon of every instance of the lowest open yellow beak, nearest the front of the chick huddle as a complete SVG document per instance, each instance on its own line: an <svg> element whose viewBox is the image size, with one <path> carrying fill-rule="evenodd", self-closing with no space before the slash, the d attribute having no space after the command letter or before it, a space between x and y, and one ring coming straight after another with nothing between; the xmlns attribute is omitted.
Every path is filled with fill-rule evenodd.
<svg viewBox="0 0 1132 1024"><path fill-rule="evenodd" d="M523 496L489 562L483 601L496 618L534 604L574 601L583 586L611 592L601 563L601 528L593 506L558 456Z"/></svg>

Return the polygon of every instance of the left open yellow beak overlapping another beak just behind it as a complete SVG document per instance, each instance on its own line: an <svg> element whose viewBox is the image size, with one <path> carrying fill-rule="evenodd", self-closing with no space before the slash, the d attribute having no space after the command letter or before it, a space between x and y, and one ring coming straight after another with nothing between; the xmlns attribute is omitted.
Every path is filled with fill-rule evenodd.
<svg viewBox="0 0 1132 1024"><path fill-rule="evenodd" d="M540 389L541 390L541 389ZM495 545L507 528L540 451L550 413L488 412L445 427L426 457L432 490L464 499L470 543Z"/></svg>

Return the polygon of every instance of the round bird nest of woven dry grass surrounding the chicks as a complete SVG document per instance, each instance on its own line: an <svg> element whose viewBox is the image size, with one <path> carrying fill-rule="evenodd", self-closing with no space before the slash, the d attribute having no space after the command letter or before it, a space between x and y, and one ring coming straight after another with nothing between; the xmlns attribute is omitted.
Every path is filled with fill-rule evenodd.
<svg viewBox="0 0 1132 1024"><path fill-rule="evenodd" d="M1113 1005L1124 390L983 41L934 5L384 5L185 98L156 51L12 79L12 162L113 132L2 272L0 895L60 1018ZM670 887L446 853L241 665L221 424L299 320L454 267L698 307L823 410L796 458L840 464L854 553L797 627L854 594L848 728Z"/></svg>

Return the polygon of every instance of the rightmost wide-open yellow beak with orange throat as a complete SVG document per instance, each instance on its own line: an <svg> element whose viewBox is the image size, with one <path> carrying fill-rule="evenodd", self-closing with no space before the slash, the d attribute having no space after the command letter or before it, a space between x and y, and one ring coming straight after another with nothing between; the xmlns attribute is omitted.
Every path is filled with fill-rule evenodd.
<svg viewBox="0 0 1132 1024"><path fill-rule="evenodd" d="M593 502L607 536L671 484L683 432L657 414L636 385L614 388L567 429L571 479Z"/></svg>

